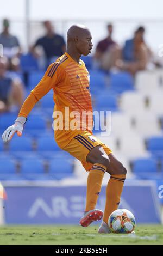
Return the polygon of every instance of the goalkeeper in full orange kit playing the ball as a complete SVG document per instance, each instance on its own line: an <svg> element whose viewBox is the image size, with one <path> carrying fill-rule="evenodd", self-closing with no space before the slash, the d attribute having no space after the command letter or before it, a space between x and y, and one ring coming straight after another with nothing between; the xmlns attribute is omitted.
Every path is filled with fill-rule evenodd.
<svg viewBox="0 0 163 256"><path fill-rule="evenodd" d="M89 88L89 72L80 59L87 56L92 49L92 37L89 29L83 25L73 25L67 32L66 53L49 65L42 80L31 91L24 101L15 124L8 127L2 135L5 142L10 141L14 133L22 135L28 114L49 90L53 89L54 120L56 113L62 114L62 125L54 126L54 137L59 147L79 159L86 171L87 192L85 213L80 219L80 225L87 227L91 222L103 221L99 233L109 233L108 218L112 211L118 208L126 178L126 168L92 133L92 103ZM70 115L65 116L65 108ZM73 115L76 113L76 126L72 127ZM82 119L83 113L89 113ZM29 120L30 121L30 120ZM91 125L90 125L91 124ZM75 128L75 129L74 129ZM66 167L65 167L66 168ZM106 187L106 204L104 214L96 209L96 203L101 191L105 172L111 176Z"/></svg>

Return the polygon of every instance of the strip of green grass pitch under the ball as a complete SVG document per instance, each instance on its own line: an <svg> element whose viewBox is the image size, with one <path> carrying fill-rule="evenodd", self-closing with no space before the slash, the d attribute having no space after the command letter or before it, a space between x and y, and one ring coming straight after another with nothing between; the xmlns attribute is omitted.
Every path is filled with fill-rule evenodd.
<svg viewBox="0 0 163 256"><path fill-rule="evenodd" d="M98 226L0 227L0 245L163 245L162 225L136 225L135 234L98 234Z"/></svg>

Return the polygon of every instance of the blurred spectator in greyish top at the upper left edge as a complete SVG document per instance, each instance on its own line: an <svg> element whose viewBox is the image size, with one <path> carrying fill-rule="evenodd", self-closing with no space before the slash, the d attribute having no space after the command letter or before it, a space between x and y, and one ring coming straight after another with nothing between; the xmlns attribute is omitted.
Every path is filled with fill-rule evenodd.
<svg viewBox="0 0 163 256"><path fill-rule="evenodd" d="M19 69L19 59L21 47L16 36L9 33L10 23L8 19L3 20L3 31L0 34L0 44L3 45L3 55L9 60L9 69L17 71Z"/></svg>

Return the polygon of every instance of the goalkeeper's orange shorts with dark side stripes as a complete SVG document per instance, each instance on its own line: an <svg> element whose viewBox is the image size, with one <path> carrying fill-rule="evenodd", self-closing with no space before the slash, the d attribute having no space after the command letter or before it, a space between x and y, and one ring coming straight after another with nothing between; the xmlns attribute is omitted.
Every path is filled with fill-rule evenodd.
<svg viewBox="0 0 163 256"><path fill-rule="evenodd" d="M64 150L80 160L85 170L89 171L91 170L93 164L86 162L86 156L91 149L95 148L98 145L101 145L103 147L107 155L112 153L110 148L108 148L104 143L102 143L98 138L96 138L88 131L84 131L83 133L75 136L70 141L70 143L66 145Z"/></svg>

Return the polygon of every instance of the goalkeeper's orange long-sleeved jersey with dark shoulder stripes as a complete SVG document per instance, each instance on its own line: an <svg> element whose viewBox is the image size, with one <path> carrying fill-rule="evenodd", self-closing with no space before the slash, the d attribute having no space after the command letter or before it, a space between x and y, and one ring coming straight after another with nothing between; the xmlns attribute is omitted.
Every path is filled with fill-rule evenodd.
<svg viewBox="0 0 163 256"><path fill-rule="evenodd" d="M65 53L57 62L49 65L39 84L24 101L18 115L27 117L35 103L51 89L55 102L54 135L59 147L63 149L73 137L84 130L92 133L89 72L84 62L80 60L78 64Z"/></svg>

